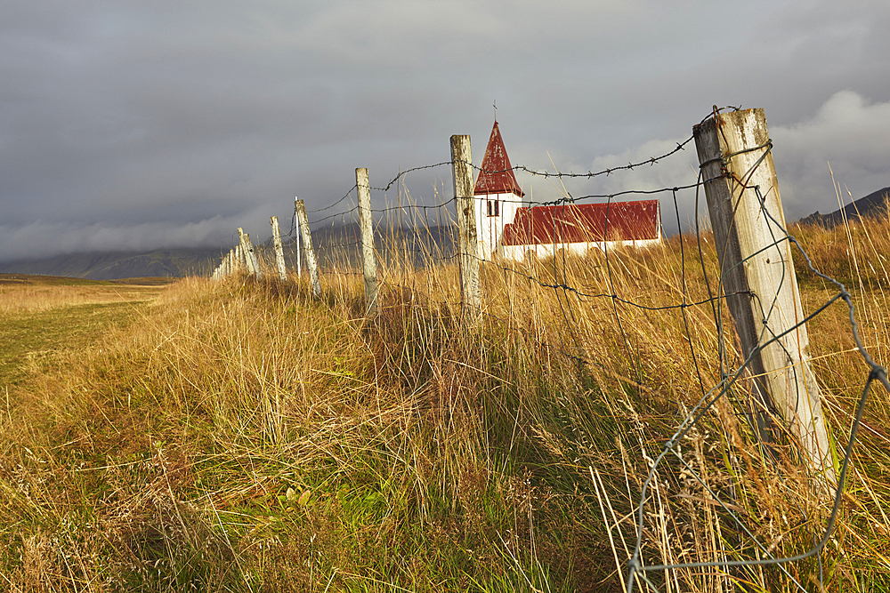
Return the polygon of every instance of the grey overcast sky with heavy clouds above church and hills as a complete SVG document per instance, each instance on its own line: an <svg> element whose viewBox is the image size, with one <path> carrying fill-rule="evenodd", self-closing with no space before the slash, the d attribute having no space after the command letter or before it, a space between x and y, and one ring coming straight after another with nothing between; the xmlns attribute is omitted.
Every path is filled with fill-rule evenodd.
<svg viewBox="0 0 890 593"><path fill-rule="evenodd" d="M238 227L262 241L295 196L346 195L356 167L384 186L448 161L452 134L481 164L495 101L513 164L534 170L658 156L718 105L765 109L787 220L837 210L831 172L847 201L890 186L886 0L0 0L0 15L0 260L228 246ZM690 143L595 180L517 177L546 201L697 168ZM417 203L452 195L447 165L402 179ZM678 198L684 227L693 203Z"/></svg>

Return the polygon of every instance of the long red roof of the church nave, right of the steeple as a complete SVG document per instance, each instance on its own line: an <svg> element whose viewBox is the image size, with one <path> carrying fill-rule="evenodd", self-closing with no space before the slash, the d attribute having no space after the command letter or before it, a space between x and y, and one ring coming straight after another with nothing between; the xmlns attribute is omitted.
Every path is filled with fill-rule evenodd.
<svg viewBox="0 0 890 593"><path fill-rule="evenodd" d="M504 228L501 243L642 241L659 238L659 225L658 200L520 208L513 223Z"/></svg>

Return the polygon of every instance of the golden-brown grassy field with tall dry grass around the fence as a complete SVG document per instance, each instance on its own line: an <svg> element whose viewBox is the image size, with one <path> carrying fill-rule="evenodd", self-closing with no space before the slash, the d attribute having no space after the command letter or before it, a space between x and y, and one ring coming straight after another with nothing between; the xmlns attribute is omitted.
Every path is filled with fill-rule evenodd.
<svg viewBox="0 0 890 593"><path fill-rule="evenodd" d="M890 224L795 232L854 289L866 347L885 361ZM243 277L61 282L47 287L54 296L4 288L0 581L12 591L621 591L651 459L719 380L718 326L709 305L613 306L522 275L651 307L695 302L707 298L702 268L716 277L713 241L702 246L703 266L684 236L616 252L608 267L595 256L485 267L478 331L463 329L455 268L392 261L374 322L360 276L323 276L320 300L303 281ZM830 296L818 276L800 278L805 309ZM68 300L92 290L95 301ZM842 305L810 335L842 446L868 369ZM725 341L734 351L731 333ZM644 508L648 565L763 557L741 523L773 556L821 537L829 505L788 451L765 458L740 416L747 394L731 396L684 437L690 465L658 470ZM890 590L888 415L876 389L820 557L681 568L652 583Z"/></svg>

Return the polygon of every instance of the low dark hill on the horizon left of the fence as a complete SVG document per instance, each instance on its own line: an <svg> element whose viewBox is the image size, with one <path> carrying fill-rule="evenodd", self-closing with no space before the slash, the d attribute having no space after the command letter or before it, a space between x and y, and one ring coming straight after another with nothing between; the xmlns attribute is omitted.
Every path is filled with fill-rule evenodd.
<svg viewBox="0 0 890 593"><path fill-rule="evenodd" d="M219 263L222 253L223 249L219 247L157 249L151 252L70 253L38 260L0 262L0 273L69 276L92 280L206 275Z"/></svg>

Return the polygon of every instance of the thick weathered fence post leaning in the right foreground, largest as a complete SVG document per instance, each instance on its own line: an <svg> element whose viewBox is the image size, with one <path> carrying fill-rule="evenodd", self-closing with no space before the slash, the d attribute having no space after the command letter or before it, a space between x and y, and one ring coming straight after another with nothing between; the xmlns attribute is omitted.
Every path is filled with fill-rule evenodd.
<svg viewBox="0 0 890 593"><path fill-rule="evenodd" d="M715 114L692 128L723 291L761 403L777 411L805 464L835 479L819 385L810 366L773 143L763 109ZM758 429L768 436L765 413Z"/></svg>

